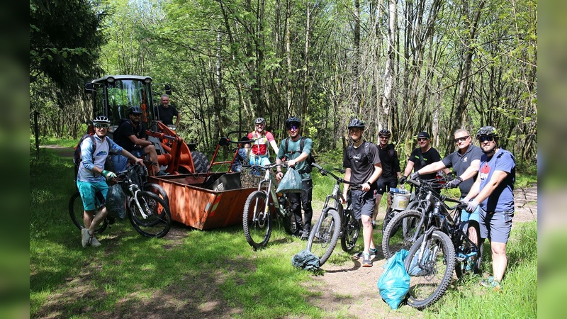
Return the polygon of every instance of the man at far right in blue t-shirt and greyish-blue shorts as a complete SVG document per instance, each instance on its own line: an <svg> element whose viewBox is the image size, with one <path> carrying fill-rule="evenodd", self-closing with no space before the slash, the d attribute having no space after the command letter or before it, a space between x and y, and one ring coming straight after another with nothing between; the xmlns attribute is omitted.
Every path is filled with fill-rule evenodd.
<svg viewBox="0 0 567 319"><path fill-rule="evenodd" d="M471 191L463 198L466 211L478 209L481 237L488 238L492 254L493 276L482 280L481 285L500 291L500 282L507 266L506 244L510 238L514 217L514 183L516 161L514 155L498 147L498 130L483 126L476 133L481 145L478 176Z"/></svg>

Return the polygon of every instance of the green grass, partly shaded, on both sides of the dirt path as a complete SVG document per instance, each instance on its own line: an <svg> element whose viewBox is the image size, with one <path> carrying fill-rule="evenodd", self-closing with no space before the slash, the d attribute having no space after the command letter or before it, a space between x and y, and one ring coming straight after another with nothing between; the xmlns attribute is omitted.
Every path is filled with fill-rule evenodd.
<svg viewBox="0 0 567 319"><path fill-rule="evenodd" d="M344 309L331 313L309 302L321 296L320 284L310 272L291 265L305 242L291 239L281 227L265 250L254 252L240 225L208 231L185 228L185 237L171 240L141 237L128 220L120 220L101 234L102 249L83 249L67 212L74 192L72 159L57 157L53 150L40 152L40 160L30 157L31 318L143 318L154 310L168 318L350 318ZM313 179L313 198L322 200L334 180L317 173ZM469 278L451 286L431 309L420 313L402 307L392 315L535 318L536 223L512 231L508 255L504 293L485 291L478 279ZM485 255L485 272L490 271L489 259ZM349 254L337 248L329 262L349 260ZM339 292L336 296L352 299ZM380 302L378 291L369 298Z"/></svg>

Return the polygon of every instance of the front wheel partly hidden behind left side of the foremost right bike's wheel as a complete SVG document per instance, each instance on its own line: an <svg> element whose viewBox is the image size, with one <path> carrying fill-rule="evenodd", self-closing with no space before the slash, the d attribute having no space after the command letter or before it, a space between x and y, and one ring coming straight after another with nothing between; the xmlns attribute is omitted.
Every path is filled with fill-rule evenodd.
<svg viewBox="0 0 567 319"><path fill-rule="evenodd" d="M425 225L418 230L420 219L425 216L420 211L409 210L396 213L382 235L384 258L392 257L400 250L410 250L417 237L425 233Z"/></svg>

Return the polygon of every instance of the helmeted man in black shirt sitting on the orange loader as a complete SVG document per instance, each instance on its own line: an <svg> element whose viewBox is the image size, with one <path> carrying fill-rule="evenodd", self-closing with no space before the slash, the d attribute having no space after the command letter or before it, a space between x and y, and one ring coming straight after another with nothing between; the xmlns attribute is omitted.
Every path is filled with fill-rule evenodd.
<svg viewBox="0 0 567 319"><path fill-rule="evenodd" d="M128 110L128 119L120 120L120 125L114 131L114 141L136 157L149 155L153 174L164 175L164 172L159 170L155 146L147 140L146 128L140 121L141 116L142 109L139 106L132 106ZM112 161L117 172L122 172L128 167L127 157L113 156Z"/></svg>

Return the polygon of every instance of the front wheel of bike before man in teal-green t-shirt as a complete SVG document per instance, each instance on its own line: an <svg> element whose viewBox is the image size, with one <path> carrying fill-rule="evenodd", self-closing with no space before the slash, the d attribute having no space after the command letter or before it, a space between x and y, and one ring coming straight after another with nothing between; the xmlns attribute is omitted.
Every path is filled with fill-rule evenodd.
<svg viewBox="0 0 567 319"><path fill-rule="evenodd" d="M246 241L254 250L268 245L271 235L269 196L264 191L252 191L244 204L242 228Z"/></svg>

